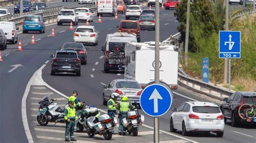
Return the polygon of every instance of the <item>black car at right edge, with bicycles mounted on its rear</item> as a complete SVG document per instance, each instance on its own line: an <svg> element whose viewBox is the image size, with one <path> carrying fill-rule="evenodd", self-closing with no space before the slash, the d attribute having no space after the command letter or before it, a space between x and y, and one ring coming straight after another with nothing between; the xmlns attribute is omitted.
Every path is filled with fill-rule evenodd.
<svg viewBox="0 0 256 143"><path fill-rule="evenodd" d="M229 98L224 98L223 103L220 105L220 110L224 115L224 121L226 123L227 119L231 120L232 126L238 126L242 122L247 122L247 120L240 118L238 110L243 104L253 104L256 103L256 92L234 92ZM254 121L251 123L256 124Z"/></svg>

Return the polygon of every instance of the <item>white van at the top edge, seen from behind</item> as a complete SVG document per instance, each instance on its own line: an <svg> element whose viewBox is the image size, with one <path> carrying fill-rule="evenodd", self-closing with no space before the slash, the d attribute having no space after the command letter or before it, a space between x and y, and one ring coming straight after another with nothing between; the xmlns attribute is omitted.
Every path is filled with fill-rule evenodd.
<svg viewBox="0 0 256 143"><path fill-rule="evenodd" d="M116 0L97 0L97 16L99 15L112 15L117 12Z"/></svg>

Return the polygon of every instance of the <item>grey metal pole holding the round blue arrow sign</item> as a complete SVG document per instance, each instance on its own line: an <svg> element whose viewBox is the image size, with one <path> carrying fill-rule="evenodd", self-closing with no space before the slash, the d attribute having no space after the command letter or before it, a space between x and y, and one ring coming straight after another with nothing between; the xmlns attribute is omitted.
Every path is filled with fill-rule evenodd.
<svg viewBox="0 0 256 143"><path fill-rule="evenodd" d="M156 0L156 48L155 48L155 69L154 69L154 83L159 84L159 35L160 35L160 9L159 0ZM159 142L159 120L154 117L154 142Z"/></svg>

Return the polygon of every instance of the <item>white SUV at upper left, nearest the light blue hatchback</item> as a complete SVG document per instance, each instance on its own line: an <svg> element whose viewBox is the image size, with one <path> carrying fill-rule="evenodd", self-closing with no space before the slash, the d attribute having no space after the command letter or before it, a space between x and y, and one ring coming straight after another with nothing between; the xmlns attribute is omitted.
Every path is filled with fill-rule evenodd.
<svg viewBox="0 0 256 143"><path fill-rule="evenodd" d="M78 25L78 17L75 13L75 10L71 9L63 9L59 11L58 17L57 17L57 25L62 25L63 23L69 23L72 22L73 25Z"/></svg>

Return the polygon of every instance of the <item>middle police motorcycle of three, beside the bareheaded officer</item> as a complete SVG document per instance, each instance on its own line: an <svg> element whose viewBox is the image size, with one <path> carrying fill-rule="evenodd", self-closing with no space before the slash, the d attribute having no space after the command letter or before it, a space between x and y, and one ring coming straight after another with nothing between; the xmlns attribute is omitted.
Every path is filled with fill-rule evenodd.
<svg viewBox="0 0 256 143"><path fill-rule="evenodd" d="M98 123L94 123L95 116L100 112L95 106L84 106L78 113L78 131L86 129L87 135L92 138L95 134L103 135L106 140L111 140L114 126L118 124L117 118L111 118L107 114L98 117Z"/></svg>

